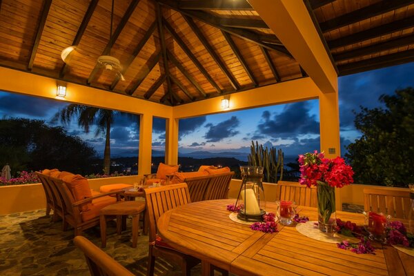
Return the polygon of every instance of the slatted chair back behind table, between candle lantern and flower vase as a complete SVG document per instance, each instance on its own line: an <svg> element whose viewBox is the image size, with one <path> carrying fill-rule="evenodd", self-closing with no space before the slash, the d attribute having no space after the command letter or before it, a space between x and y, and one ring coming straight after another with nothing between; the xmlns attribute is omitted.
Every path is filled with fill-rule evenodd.
<svg viewBox="0 0 414 276"><path fill-rule="evenodd" d="M276 198L295 201L301 206L317 207L317 188L308 188L298 182L277 181Z"/></svg>

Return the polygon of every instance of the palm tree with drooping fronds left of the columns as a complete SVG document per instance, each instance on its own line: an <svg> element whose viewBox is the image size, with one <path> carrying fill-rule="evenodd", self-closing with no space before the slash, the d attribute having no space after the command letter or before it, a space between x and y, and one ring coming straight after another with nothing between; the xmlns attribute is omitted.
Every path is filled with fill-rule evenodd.
<svg viewBox="0 0 414 276"><path fill-rule="evenodd" d="M69 124L73 117L77 116L78 126L88 133L90 127L96 124L95 137L105 133L105 150L103 152L103 173L109 175L110 168L110 126L114 121L115 115L124 114L115 110L94 108L92 106L82 106L72 103L55 115L55 120L63 124ZM136 117L136 115L130 114Z"/></svg>

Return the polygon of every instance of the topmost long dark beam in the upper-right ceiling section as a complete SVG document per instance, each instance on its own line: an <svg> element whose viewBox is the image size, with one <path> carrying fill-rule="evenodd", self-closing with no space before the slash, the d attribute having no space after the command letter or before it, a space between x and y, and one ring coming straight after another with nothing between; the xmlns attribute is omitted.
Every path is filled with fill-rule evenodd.
<svg viewBox="0 0 414 276"><path fill-rule="evenodd" d="M366 6L364 8L354 10L353 12L348 12L339 17L334 17L333 19L319 23L319 26L321 27L322 32L329 32L330 30L348 26L352 23L375 17L379 14L384 14L391 10L408 6L412 3L414 3L414 0L380 1L373 5Z"/></svg>

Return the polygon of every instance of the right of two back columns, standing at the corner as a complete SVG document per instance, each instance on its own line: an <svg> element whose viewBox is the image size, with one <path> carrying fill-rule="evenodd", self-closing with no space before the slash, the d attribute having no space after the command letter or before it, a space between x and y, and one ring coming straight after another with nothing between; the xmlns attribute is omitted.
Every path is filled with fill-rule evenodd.
<svg viewBox="0 0 414 276"><path fill-rule="evenodd" d="M166 119L166 164L178 164L178 120Z"/></svg>

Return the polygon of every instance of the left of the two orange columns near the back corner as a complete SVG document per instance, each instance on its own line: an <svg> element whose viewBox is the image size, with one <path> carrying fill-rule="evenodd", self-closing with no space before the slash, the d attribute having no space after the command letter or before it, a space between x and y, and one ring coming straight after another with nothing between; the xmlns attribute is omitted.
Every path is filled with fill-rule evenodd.
<svg viewBox="0 0 414 276"><path fill-rule="evenodd" d="M139 118L138 174L151 173L152 115L141 114Z"/></svg>

